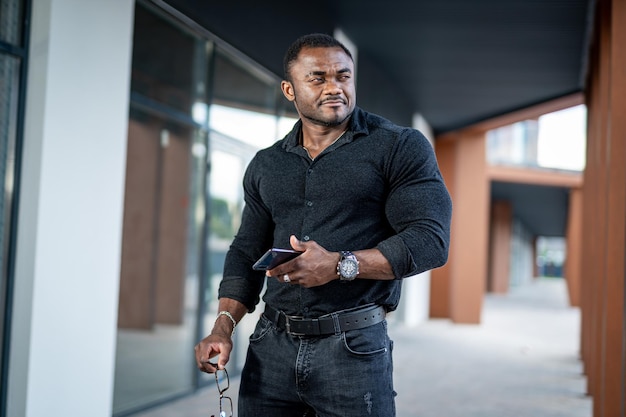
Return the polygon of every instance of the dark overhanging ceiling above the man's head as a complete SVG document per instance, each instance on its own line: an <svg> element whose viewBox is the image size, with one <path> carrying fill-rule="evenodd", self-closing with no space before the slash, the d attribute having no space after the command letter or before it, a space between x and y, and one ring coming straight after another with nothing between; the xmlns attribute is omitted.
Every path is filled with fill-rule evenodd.
<svg viewBox="0 0 626 417"><path fill-rule="evenodd" d="M592 1L167 3L277 75L295 38L341 28L439 134L580 92Z"/></svg>

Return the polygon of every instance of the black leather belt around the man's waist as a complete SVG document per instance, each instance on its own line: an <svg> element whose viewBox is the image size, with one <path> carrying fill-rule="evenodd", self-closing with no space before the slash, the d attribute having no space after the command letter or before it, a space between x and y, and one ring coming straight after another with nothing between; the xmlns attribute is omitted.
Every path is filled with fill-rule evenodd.
<svg viewBox="0 0 626 417"><path fill-rule="evenodd" d="M266 305L263 313L277 328L292 336L324 336L348 330L364 329L385 319L382 306L371 305L358 310L333 313L317 319L289 316Z"/></svg>

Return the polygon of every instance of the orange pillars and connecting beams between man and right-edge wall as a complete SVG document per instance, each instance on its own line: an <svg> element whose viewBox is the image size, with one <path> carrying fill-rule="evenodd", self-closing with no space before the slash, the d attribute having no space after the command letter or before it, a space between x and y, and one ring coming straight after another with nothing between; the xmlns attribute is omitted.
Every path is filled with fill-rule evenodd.
<svg viewBox="0 0 626 417"><path fill-rule="evenodd" d="M452 196L453 209L448 263L432 272L430 317L480 323L485 291L506 292L508 289L510 250L504 241L506 236L510 239L512 213L505 216L506 213L498 211L493 213L496 217L490 217L491 181L561 186L572 190L580 190L582 186L582 175L578 173L489 166L485 152L487 130L581 104L582 100L582 95L574 94L437 138L435 151ZM581 251L582 221L581 198L573 195L567 236L572 255ZM570 300L576 300L580 292L580 258L578 262L572 259L570 265L578 266L570 266L568 284Z"/></svg>

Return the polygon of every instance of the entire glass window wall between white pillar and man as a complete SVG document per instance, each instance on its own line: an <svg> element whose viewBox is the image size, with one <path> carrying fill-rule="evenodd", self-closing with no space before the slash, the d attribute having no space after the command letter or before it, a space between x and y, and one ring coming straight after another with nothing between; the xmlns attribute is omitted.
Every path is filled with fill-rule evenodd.
<svg viewBox="0 0 626 417"><path fill-rule="evenodd" d="M193 347L217 316L224 258L243 209L243 175L255 153L295 121L278 77L210 38L137 3L116 414L214 383L197 370ZM253 327L254 317L246 318L235 333L233 375Z"/></svg>

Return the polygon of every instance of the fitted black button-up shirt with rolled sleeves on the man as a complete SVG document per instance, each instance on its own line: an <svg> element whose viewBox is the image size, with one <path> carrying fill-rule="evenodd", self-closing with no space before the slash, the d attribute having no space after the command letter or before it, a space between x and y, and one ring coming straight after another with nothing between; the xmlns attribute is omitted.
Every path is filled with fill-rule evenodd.
<svg viewBox="0 0 626 417"><path fill-rule="evenodd" d="M358 107L348 130L314 160L299 143L300 130L298 121L246 170L241 227L226 255L219 297L252 311L265 283L252 264L270 247L289 248L294 234L329 251L378 248L396 279L314 288L269 279L268 305L304 317L370 303L394 310L402 278L447 260L452 207L432 146L419 131Z"/></svg>

